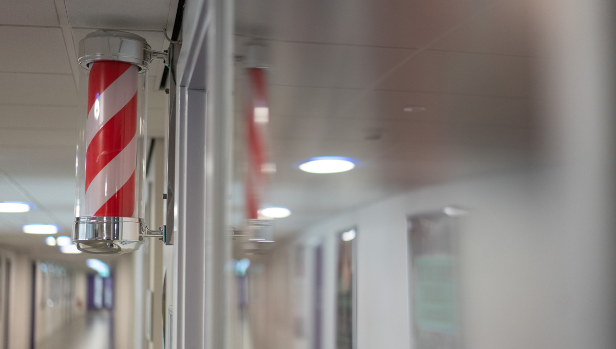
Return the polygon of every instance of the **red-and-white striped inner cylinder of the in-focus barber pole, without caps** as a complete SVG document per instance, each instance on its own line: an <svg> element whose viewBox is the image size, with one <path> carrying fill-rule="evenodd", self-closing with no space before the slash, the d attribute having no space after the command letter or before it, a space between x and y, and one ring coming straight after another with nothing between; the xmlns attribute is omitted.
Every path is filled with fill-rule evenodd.
<svg viewBox="0 0 616 349"><path fill-rule="evenodd" d="M137 73L137 66L130 63L92 63L87 92L87 216L134 214Z"/></svg>

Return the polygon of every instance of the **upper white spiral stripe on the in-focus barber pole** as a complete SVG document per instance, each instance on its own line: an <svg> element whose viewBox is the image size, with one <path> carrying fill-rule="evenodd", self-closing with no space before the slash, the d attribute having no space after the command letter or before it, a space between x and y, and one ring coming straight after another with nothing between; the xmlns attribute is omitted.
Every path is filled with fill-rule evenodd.
<svg viewBox="0 0 616 349"><path fill-rule="evenodd" d="M137 93L137 66L131 65L118 79L111 82L99 96L99 116L95 117L94 107L92 105L87 114L87 131L86 131L86 148L92 142L92 138L102 129L118 111L131 101L132 97Z"/></svg>

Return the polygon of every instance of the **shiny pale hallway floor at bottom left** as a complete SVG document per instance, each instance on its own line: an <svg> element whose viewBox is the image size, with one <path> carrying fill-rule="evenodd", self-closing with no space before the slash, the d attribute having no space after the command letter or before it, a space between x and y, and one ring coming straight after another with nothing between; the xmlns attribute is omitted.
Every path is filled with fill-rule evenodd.
<svg viewBox="0 0 616 349"><path fill-rule="evenodd" d="M54 335L42 340L36 349L111 349L111 314L88 313Z"/></svg>

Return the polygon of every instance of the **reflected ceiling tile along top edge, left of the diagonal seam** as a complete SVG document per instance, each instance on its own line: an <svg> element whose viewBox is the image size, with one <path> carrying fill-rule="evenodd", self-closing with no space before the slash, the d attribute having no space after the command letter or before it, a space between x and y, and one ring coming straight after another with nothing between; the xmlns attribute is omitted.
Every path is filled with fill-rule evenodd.
<svg viewBox="0 0 616 349"><path fill-rule="evenodd" d="M238 34L284 41L424 47L482 8L477 1L244 0Z"/></svg>

